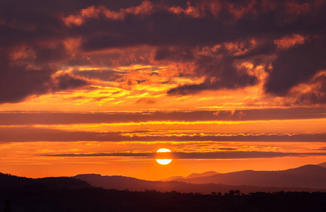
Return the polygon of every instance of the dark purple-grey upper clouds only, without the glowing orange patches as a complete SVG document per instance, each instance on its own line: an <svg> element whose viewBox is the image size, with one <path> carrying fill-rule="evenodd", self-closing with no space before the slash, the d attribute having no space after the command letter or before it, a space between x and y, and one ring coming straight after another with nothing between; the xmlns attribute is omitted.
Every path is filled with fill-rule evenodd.
<svg viewBox="0 0 326 212"><path fill-rule="evenodd" d="M91 6L100 9L96 14L82 17L81 9ZM43 86L49 83L54 65L87 64L85 59L74 58L64 46L64 40L71 37L81 38L79 51L83 52L147 45L158 49L156 60L194 61L195 74L206 80L180 85L169 90L170 95L255 85L255 76L236 69L235 61L248 59L256 65L262 63L262 54L273 56L276 59L272 61L265 90L274 95L288 95L293 86L309 81L325 69L325 11L323 1L293 0L0 1L0 49L4 52L0 61L0 102L18 102L28 95L47 93L49 88ZM111 12L121 13L120 18L110 17ZM81 23L65 25L62 18L70 16L81 16ZM308 39L289 49L280 50L273 45L274 40L292 34L305 35ZM240 50L249 51L241 55L225 51L210 56L194 55L197 47L252 39L265 45L252 49L248 44L243 45ZM8 57L15 47L22 45L33 50L33 57L23 60ZM112 63L110 59L101 61ZM27 78L30 83L22 82L21 78ZM78 84L74 80L70 82ZM22 86L13 88L10 84ZM324 103L324 96L325 89L321 88L320 95L312 93L302 98Z"/></svg>

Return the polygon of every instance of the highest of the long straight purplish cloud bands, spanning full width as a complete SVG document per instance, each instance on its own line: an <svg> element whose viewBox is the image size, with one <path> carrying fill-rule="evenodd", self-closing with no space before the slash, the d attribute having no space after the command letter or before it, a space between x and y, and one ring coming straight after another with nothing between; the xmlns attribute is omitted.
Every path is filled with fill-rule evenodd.
<svg viewBox="0 0 326 212"><path fill-rule="evenodd" d="M105 93L104 93L105 94ZM81 97L76 97L81 98ZM139 100L151 103L146 100ZM0 125L20 124L83 124L115 122L149 121L250 121L250 120L286 120L286 119L322 119L326 117L325 107L263 110L222 110L194 112L0 112Z"/></svg>

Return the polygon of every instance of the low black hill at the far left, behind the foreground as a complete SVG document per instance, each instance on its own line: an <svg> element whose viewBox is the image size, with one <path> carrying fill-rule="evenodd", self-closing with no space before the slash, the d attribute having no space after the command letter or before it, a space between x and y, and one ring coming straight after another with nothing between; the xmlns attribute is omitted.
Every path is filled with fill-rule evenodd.
<svg viewBox="0 0 326 212"><path fill-rule="evenodd" d="M0 172L0 188L9 189L82 189L91 185L71 177L27 178L7 175Z"/></svg>

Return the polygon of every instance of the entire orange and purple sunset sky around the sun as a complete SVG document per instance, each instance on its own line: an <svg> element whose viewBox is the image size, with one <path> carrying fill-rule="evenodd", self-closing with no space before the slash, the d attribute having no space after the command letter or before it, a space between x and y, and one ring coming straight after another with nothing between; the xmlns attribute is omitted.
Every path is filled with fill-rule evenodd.
<svg viewBox="0 0 326 212"><path fill-rule="evenodd" d="M0 0L0 172L324 163L325 33L324 0Z"/></svg>

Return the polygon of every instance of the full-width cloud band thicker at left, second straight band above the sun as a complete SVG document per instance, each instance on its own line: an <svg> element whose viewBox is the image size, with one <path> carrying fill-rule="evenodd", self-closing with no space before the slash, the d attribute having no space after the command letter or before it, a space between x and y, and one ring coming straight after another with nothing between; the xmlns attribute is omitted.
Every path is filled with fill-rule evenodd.
<svg viewBox="0 0 326 212"><path fill-rule="evenodd" d="M132 133L132 132L131 132ZM295 135L182 135L182 136L127 136L120 131L63 131L57 129L37 129L33 127L1 127L1 142L25 141L294 141L325 142L326 134Z"/></svg>

